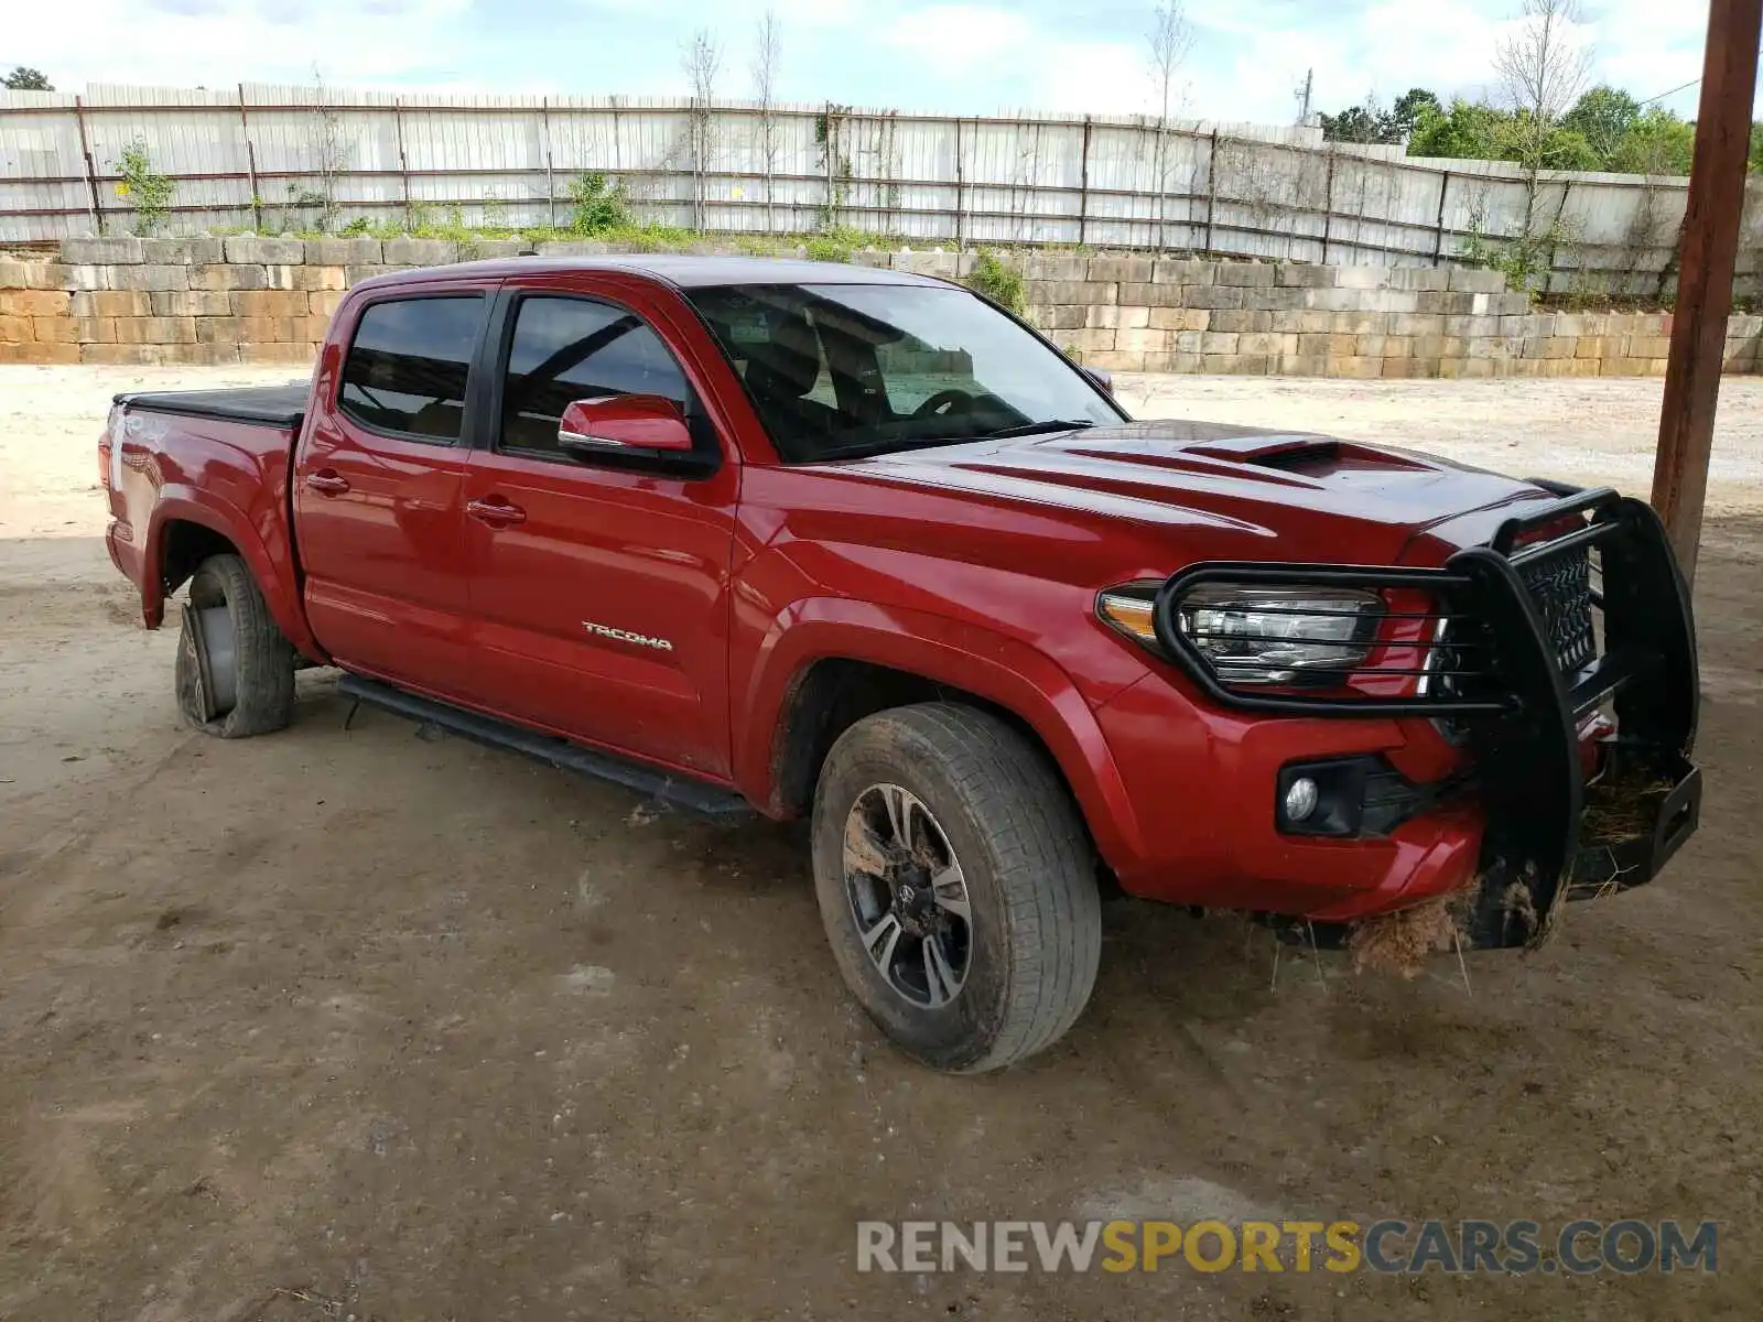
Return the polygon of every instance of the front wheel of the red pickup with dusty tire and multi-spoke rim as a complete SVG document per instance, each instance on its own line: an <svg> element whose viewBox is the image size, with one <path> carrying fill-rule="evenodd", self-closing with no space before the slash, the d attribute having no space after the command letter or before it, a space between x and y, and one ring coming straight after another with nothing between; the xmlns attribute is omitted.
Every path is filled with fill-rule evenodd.
<svg viewBox="0 0 1763 1322"><path fill-rule="evenodd" d="M1102 955L1088 839L1045 753L998 717L926 703L853 724L813 850L839 971L906 1054L980 1073L1077 1021Z"/></svg>

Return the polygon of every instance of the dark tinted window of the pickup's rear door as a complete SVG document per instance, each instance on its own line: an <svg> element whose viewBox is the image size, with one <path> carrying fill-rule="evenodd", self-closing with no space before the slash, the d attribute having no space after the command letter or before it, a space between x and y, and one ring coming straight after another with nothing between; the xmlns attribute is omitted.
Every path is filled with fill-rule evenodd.
<svg viewBox="0 0 1763 1322"><path fill-rule="evenodd" d="M485 307L481 294L370 305L344 361L338 407L376 432L455 444Z"/></svg>

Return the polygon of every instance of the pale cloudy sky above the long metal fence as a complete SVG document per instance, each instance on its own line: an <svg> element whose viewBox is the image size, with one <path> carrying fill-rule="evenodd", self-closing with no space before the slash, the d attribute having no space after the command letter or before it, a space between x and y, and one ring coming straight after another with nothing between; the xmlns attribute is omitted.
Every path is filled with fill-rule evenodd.
<svg viewBox="0 0 1763 1322"><path fill-rule="evenodd" d="M1188 0L1188 118L1291 123L1410 86L1493 92L1520 0ZM12 0L0 69L86 83L684 95L681 46L710 28L719 97L751 97L753 30L781 21L777 100L986 115L1155 111L1155 0ZM1707 5L1583 0L1592 79L1655 97L1701 72ZM1661 104L1687 116L1696 88Z"/></svg>

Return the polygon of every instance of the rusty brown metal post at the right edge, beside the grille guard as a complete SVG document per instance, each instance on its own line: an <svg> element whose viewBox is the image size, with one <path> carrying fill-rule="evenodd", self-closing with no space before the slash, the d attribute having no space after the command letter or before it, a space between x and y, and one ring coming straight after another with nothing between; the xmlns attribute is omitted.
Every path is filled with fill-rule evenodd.
<svg viewBox="0 0 1763 1322"><path fill-rule="evenodd" d="M1689 167L1689 206L1671 321L1671 360L1664 375L1654 509L1664 520L1685 578L1696 576L1701 508L1708 494L1708 451L1726 358L1726 316L1733 310L1738 222L1745 208L1751 102L1758 83L1763 0L1710 0L1708 44L1701 65L1696 155Z"/></svg>

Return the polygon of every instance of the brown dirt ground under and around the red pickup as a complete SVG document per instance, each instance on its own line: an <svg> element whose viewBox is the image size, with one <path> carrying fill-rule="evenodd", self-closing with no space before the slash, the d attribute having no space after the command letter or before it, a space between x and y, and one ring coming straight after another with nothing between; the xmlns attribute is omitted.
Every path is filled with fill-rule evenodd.
<svg viewBox="0 0 1763 1322"><path fill-rule="evenodd" d="M1655 887L1414 984L1116 901L1095 999L986 1079L852 1008L797 830L712 828L361 712L180 728L99 543L111 391L0 370L0 1317L1754 1318L1763 382L1698 582L1708 791ZM1132 379L1647 488L1659 382ZM1751 807L1747 807L1751 804ZM1719 1273L860 1276L859 1218L1721 1222Z"/></svg>

